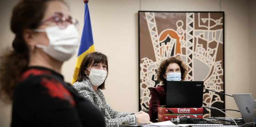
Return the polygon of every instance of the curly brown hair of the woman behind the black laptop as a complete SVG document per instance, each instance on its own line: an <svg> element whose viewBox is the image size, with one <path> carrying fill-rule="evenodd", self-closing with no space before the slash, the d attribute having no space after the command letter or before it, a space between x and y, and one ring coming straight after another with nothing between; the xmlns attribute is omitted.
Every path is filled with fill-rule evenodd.
<svg viewBox="0 0 256 127"><path fill-rule="evenodd" d="M166 67L171 63L176 63L179 65L182 81L184 81L187 76L187 65L181 60L180 56L176 56L176 57L172 56L164 60L156 70L157 80L162 82L163 84L166 84L166 79L163 77L166 71Z"/></svg>

